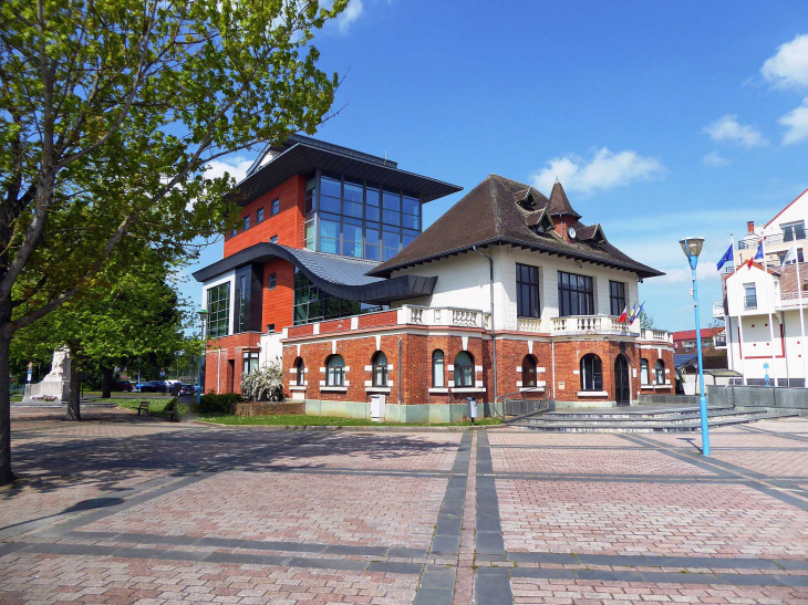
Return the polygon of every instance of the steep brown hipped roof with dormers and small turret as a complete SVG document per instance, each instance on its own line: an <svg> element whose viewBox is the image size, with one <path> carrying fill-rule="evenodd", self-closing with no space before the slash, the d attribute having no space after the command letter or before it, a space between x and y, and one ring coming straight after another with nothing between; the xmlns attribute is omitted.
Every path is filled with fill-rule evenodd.
<svg viewBox="0 0 808 605"><path fill-rule="evenodd" d="M386 277L395 269L456 254L469 250L473 246L496 243L509 243L549 254L624 269L636 273L641 279L664 274L623 254L605 239L603 241L599 241L599 238L591 239L595 231L602 233L602 229L592 229L590 238L577 237L574 241L566 241L555 230L543 233L531 229L529 222L536 222L540 215L537 215L537 210L528 210L520 206L519 202L525 197L527 188L528 186L522 182L489 175L415 241L367 274ZM547 199L535 189L534 194L537 200ZM549 204L548 200L548 206ZM580 225L586 236L587 226L577 225Z"/></svg>

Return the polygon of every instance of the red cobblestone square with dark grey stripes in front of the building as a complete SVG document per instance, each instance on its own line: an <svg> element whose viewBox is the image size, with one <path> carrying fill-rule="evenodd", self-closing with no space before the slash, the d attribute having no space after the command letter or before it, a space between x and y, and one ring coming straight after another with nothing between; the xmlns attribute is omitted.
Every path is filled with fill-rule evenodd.
<svg viewBox="0 0 808 605"><path fill-rule="evenodd" d="M15 408L0 603L806 603L808 420L218 428Z"/></svg>

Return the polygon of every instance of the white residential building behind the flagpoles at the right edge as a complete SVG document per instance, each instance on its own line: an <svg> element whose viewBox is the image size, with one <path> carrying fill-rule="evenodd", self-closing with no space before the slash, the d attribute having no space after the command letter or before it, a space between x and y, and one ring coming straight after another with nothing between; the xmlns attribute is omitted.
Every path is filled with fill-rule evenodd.
<svg viewBox="0 0 808 605"><path fill-rule="evenodd" d="M714 305L713 314L725 319L729 369L743 375L737 382L764 385L768 379L777 386L806 385L808 265L802 259L807 217L808 190L765 226L749 223L749 232L737 242L737 269L727 265L722 274L724 301ZM754 259L760 241L765 262L742 265ZM793 246L799 263L783 265Z"/></svg>

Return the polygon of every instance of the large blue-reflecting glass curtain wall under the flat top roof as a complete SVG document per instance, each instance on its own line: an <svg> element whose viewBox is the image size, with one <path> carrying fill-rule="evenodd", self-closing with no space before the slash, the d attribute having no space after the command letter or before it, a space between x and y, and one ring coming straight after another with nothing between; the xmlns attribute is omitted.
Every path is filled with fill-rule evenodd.
<svg viewBox="0 0 808 605"><path fill-rule="evenodd" d="M318 207L319 192L319 207ZM305 186L304 246L386 261L421 233L421 200L406 191L323 173Z"/></svg>

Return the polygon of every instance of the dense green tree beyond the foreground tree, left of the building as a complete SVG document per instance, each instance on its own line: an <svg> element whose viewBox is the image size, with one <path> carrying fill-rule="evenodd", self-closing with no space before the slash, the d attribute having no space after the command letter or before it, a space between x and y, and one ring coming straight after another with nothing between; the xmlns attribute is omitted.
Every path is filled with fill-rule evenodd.
<svg viewBox="0 0 808 605"><path fill-rule="evenodd" d="M139 262L112 264L112 286L101 292L87 289L42 320L21 328L12 341L14 358L41 358L49 351L68 347L71 356L71 393L68 419L81 420L81 374L101 369L102 396L108 397L113 368L146 358L168 365L175 353L187 347L186 328L191 320L168 283L170 267L155 262L144 248ZM104 280L107 281L107 280ZM193 345L199 345L191 341Z"/></svg>

